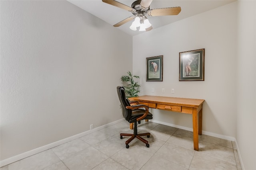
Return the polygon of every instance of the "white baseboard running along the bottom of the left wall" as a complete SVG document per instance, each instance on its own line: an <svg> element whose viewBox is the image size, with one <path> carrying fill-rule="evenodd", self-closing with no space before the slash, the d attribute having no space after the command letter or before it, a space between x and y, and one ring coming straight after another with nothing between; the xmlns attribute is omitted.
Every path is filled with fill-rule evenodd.
<svg viewBox="0 0 256 170"><path fill-rule="evenodd" d="M62 144L64 144L64 143L67 143L67 142L72 141L72 140L74 140L74 139L78 139L78 138L83 137L83 136L85 136L85 135L88 135L88 134L90 134L90 133L93 133L93 132L99 131L99 130L101 130L101 129L104 129L104 128L106 128L106 127L112 126L112 125L114 125L114 124L116 124L116 123L120 123L120 122L122 122L122 121L124 121L124 120L125 120L125 119L122 118L122 119L120 119L120 120L113 121L113 122L108 123L108 124L106 124L106 125L102 125L102 126L100 126L100 127L96 127L96 128L94 128L94 129L92 129L92 130L79 133L79 134L74 135L74 136L72 136L72 137L68 137L68 138L66 138L66 139L62 139L62 140L60 140L60 141L56 141L56 142L54 142L54 143L50 143L50 144L48 144L48 145L45 145L45 146L42 146L42 147L39 147L39 148L30 150L30 151L28 151L28 152L24 152L24 153L22 153L22 154L18 154L18 155L16 155L16 156L13 156L13 157L10 157L10 158L1 160L1 161L0 161L0 167L6 166L6 165L8 165L8 164L11 164L11 163L16 162L16 161L21 160L21 159L24 159L24 158L26 158L26 157L28 157L28 156L32 156L32 155L34 155L34 154L43 152L43 151L45 151L45 150L48 150L48 149L57 147L57 146L59 146L59 145L62 145Z"/></svg>

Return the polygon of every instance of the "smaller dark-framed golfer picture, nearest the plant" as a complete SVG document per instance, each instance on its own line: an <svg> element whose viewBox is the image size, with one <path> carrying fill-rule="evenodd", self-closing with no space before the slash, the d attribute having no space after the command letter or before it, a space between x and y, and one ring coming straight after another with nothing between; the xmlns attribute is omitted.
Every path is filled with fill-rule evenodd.
<svg viewBox="0 0 256 170"><path fill-rule="evenodd" d="M146 58L146 81L163 81L163 56Z"/></svg>

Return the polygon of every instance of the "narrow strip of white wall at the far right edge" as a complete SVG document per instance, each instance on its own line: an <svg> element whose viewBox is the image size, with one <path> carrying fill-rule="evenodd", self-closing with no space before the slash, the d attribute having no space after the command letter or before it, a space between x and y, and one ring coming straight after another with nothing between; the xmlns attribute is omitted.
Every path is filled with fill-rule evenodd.
<svg viewBox="0 0 256 170"><path fill-rule="evenodd" d="M236 141L244 168L256 169L256 1L238 1Z"/></svg>

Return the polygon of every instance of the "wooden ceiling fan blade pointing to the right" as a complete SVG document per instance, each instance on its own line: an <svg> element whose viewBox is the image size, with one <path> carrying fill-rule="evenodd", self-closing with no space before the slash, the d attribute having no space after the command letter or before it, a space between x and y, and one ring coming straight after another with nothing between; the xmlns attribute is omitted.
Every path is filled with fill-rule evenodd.
<svg viewBox="0 0 256 170"><path fill-rule="evenodd" d="M148 16L172 16L178 15L181 11L180 7L171 7L171 8L158 8L148 10Z"/></svg>

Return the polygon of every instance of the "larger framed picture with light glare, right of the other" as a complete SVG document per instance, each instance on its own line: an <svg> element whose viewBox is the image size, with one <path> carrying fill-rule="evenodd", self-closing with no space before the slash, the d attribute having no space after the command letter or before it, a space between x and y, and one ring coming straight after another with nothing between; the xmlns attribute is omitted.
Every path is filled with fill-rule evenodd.
<svg viewBox="0 0 256 170"><path fill-rule="evenodd" d="M180 81L204 81L204 49L180 53Z"/></svg>

